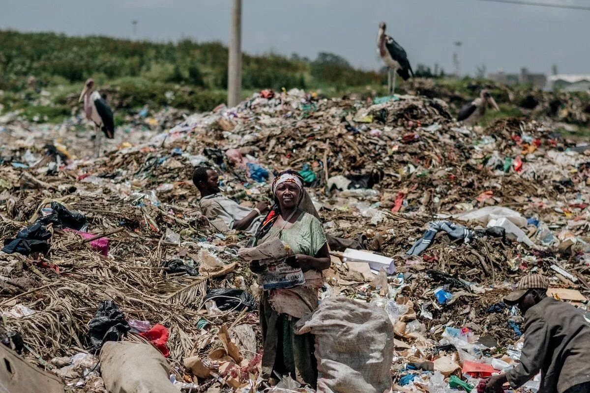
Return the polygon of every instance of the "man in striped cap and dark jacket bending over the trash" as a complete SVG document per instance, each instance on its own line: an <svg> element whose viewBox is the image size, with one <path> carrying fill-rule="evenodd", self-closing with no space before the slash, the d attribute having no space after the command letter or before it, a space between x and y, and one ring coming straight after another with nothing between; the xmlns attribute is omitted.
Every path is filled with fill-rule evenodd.
<svg viewBox="0 0 590 393"><path fill-rule="evenodd" d="M542 275L523 277L504 298L525 316L525 343L520 364L493 375L485 392L503 392L510 382L517 389L541 371L539 392L590 392L590 325L574 306L548 298L548 280Z"/></svg>

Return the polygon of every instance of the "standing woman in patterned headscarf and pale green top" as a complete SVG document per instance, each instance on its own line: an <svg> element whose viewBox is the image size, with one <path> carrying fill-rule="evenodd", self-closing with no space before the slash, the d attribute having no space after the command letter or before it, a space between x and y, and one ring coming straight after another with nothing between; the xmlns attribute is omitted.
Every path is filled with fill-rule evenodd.
<svg viewBox="0 0 590 393"><path fill-rule="evenodd" d="M318 290L323 285L322 270L330 266L330 255L322 223L312 214L299 208L303 199L303 178L286 170L278 174L271 187L274 206L267 214L255 237L255 245L279 237L295 255L287 260L293 267L301 267L305 284L289 289L265 290L260 304L260 323L263 331L263 377L276 379L290 374L300 383L317 384L317 362L314 336L296 335L294 325L300 318L317 308ZM256 261L250 264L254 273L262 273L265 266Z"/></svg>

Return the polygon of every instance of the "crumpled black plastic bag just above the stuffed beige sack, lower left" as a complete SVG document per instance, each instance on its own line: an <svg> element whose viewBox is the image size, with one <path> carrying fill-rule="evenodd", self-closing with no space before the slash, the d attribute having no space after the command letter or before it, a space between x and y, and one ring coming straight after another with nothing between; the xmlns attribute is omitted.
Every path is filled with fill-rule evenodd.
<svg viewBox="0 0 590 393"><path fill-rule="evenodd" d="M113 300L103 300L90 321L90 350L96 354L107 341L119 341L131 328Z"/></svg>

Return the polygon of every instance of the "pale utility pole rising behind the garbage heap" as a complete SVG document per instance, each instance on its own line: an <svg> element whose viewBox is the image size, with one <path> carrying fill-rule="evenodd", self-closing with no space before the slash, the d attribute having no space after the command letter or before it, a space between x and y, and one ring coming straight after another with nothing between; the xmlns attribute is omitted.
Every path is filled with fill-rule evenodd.
<svg viewBox="0 0 590 393"><path fill-rule="evenodd" d="M227 104L235 107L242 93L242 0L232 0L230 56L227 67Z"/></svg>

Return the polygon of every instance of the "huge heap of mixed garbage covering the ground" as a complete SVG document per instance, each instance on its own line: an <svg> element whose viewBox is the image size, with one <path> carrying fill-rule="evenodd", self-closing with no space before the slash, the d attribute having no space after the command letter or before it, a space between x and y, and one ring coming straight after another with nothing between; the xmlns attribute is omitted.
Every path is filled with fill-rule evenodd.
<svg viewBox="0 0 590 393"><path fill-rule="evenodd" d="M333 247L320 302L385 312L394 391L471 391L513 365L523 319L501 299L527 272L587 311L590 150L540 121L465 128L438 98L292 90L163 132L130 126L93 160L64 153L91 154L67 123L25 131L8 124L0 151L0 311L25 358L72 391L265 387L248 237L196 207L201 165L247 206L300 171L326 233L362 246Z"/></svg>

